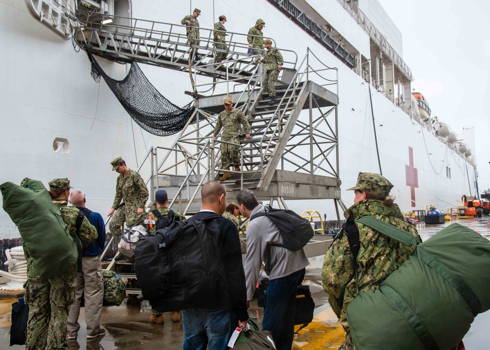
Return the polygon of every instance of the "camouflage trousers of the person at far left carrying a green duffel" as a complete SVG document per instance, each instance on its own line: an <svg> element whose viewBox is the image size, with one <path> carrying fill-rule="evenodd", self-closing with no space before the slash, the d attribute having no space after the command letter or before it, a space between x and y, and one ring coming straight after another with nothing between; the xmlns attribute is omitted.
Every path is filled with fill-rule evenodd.
<svg viewBox="0 0 490 350"><path fill-rule="evenodd" d="M29 306L25 349L68 349L66 320L75 299L75 279L28 277L24 288Z"/></svg>

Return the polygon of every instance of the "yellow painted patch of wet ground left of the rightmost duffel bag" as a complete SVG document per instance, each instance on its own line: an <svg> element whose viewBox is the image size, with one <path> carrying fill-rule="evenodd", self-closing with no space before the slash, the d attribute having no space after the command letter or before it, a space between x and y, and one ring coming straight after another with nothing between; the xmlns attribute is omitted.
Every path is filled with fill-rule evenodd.
<svg viewBox="0 0 490 350"><path fill-rule="evenodd" d="M330 307L327 307L315 315L312 323L301 329L299 334L294 336L293 349L337 350L344 339L345 333L337 320L337 316L335 316Z"/></svg>

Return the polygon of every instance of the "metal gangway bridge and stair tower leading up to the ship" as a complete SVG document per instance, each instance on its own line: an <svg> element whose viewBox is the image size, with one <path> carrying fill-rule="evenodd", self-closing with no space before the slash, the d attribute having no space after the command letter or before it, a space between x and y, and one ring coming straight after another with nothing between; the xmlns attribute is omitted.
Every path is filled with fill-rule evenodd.
<svg viewBox="0 0 490 350"><path fill-rule="evenodd" d="M83 48L117 62L188 72L195 82L189 93L195 98L194 114L170 147L150 148L138 168L150 198L156 190L166 189L172 199L169 207L192 215L201 207L202 184L229 172L232 177L222 183L230 202L244 188L254 191L258 200L270 204L275 200L280 208L288 207L286 200L333 200L340 224L339 206L345 206L340 200L336 68L326 66L309 49L298 60L294 51L280 48L285 63L276 84L277 98L271 103L261 84L263 65L257 64L262 52L249 55L245 34L228 33L227 57L216 62L220 49L214 47L213 30L200 28L196 49L201 57L196 60L185 26L117 16L102 25L101 15L92 16L83 11L78 16L74 37ZM225 97L232 98L251 126L250 139L243 138L240 144L241 162L232 170L221 169L220 146L225 142L213 139ZM234 171L235 166L240 171ZM307 255L323 254L325 243L308 244ZM123 277L131 279L134 274Z"/></svg>

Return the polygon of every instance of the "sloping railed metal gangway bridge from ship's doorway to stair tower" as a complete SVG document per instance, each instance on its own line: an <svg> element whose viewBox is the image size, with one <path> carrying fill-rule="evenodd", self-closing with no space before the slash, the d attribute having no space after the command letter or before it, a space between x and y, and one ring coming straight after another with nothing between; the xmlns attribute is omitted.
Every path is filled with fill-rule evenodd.
<svg viewBox="0 0 490 350"><path fill-rule="evenodd" d="M250 72L247 69L253 68L266 51L254 49L251 54L247 37L252 37L254 41L263 38L244 33L227 31L224 44L228 46L228 50L222 50L215 47L223 43L214 41L214 29L211 28L199 28L199 45L191 45L186 35L186 25L107 16L83 10L78 11L77 16L80 25L76 38L79 42L86 42L90 50L105 51L122 61L137 60L149 64L178 66L180 69L188 68L189 59L184 57L189 53L195 59L191 64L195 75L216 77L222 76L226 70L229 75L248 77ZM102 24L107 21L112 22ZM274 43L273 39L268 39ZM293 50L280 50L285 64L295 69L297 54ZM201 56L198 60L196 52ZM227 54L222 62L216 62L218 52Z"/></svg>

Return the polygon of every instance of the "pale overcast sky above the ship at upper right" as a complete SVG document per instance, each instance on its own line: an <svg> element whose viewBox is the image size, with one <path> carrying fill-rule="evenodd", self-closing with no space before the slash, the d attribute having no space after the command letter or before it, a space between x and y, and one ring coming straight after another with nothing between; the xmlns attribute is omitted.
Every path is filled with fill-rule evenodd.
<svg viewBox="0 0 490 350"><path fill-rule="evenodd" d="M490 188L490 1L378 0L403 37L412 88L454 132L475 127L480 190Z"/></svg>

